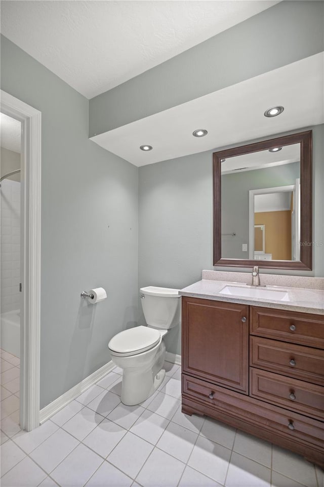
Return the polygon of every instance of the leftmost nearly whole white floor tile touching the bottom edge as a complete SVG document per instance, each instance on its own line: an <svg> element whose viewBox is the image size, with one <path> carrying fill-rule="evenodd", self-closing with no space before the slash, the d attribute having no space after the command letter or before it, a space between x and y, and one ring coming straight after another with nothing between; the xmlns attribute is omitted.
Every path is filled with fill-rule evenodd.
<svg viewBox="0 0 324 487"><path fill-rule="evenodd" d="M51 477L62 487L84 485L102 462L101 457L80 444L56 467Z"/></svg>

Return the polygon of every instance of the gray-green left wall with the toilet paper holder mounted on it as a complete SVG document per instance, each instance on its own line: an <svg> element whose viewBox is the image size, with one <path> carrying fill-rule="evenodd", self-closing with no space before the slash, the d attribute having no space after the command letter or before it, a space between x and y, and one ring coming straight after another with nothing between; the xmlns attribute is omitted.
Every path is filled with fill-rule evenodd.
<svg viewBox="0 0 324 487"><path fill-rule="evenodd" d="M41 407L137 319L138 169L88 140L88 100L6 38L2 89L42 112ZM80 292L102 286L87 305Z"/></svg>

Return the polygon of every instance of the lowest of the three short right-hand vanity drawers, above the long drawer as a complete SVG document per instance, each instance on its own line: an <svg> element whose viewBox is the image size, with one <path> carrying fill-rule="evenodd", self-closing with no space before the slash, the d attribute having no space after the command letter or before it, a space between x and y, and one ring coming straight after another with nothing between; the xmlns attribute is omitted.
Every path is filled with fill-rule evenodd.
<svg viewBox="0 0 324 487"><path fill-rule="evenodd" d="M324 421L324 387L251 367L250 396Z"/></svg>

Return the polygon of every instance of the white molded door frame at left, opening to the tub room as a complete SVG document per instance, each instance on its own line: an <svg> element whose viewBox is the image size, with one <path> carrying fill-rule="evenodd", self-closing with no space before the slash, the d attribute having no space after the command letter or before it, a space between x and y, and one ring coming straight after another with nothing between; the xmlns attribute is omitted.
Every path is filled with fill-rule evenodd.
<svg viewBox="0 0 324 487"><path fill-rule="evenodd" d="M1 112L21 122L20 427L39 425L42 114L1 90Z"/></svg>

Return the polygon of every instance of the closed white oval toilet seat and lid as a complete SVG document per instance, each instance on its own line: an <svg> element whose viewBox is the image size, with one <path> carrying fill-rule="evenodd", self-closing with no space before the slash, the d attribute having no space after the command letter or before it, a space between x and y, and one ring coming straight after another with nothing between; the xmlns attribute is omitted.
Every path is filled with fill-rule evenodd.
<svg viewBox="0 0 324 487"><path fill-rule="evenodd" d="M117 333L108 343L111 355L130 357L150 350L161 341L158 330L137 326Z"/></svg>

